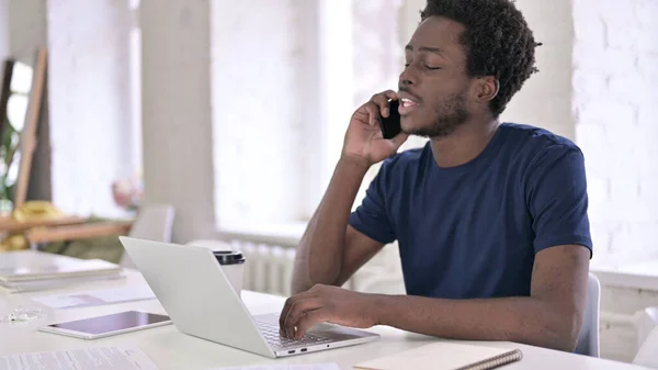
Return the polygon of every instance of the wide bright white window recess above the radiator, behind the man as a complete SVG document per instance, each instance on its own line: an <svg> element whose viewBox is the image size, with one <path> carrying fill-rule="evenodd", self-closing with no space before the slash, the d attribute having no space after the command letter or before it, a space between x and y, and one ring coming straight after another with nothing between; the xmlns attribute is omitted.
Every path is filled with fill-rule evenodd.
<svg viewBox="0 0 658 370"><path fill-rule="evenodd" d="M374 92L397 86L402 65L398 2L214 5L220 228L310 218L340 157L352 112Z"/></svg>

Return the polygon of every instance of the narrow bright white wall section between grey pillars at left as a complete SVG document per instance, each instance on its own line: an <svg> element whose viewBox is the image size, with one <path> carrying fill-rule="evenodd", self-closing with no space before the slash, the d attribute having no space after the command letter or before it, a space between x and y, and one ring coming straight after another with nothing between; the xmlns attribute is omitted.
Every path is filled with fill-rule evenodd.
<svg viewBox="0 0 658 370"><path fill-rule="evenodd" d="M133 167L127 1L49 1L53 201L63 211L121 215L111 183Z"/></svg>

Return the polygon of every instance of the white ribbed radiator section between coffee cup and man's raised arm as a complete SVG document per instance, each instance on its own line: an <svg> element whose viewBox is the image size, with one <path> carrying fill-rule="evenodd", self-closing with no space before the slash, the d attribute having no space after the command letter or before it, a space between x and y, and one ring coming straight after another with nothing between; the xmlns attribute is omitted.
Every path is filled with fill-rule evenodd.
<svg viewBox="0 0 658 370"><path fill-rule="evenodd" d="M295 249L242 239L229 242L234 250L241 250L245 259L242 288L256 292L291 295Z"/></svg>

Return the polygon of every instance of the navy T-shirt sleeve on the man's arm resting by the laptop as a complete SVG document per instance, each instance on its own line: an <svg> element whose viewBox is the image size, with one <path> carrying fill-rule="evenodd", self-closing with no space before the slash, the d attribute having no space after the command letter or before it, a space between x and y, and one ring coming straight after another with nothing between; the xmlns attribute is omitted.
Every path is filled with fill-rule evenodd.
<svg viewBox="0 0 658 370"><path fill-rule="evenodd" d="M551 146L529 168L526 202L535 253L559 245L582 245L591 258L585 158L580 149Z"/></svg>

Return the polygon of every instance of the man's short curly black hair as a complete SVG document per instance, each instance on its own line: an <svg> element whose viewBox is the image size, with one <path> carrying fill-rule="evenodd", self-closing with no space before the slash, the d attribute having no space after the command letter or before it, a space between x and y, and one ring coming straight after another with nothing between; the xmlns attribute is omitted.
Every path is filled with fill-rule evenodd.
<svg viewBox="0 0 658 370"><path fill-rule="evenodd" d="M428 0L421 21L444 16L464 25L461 43L470 77L494 76L500 85L489 108L502 113L525 80L538 69L534 36L513 0Z"/></svg>

